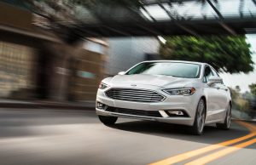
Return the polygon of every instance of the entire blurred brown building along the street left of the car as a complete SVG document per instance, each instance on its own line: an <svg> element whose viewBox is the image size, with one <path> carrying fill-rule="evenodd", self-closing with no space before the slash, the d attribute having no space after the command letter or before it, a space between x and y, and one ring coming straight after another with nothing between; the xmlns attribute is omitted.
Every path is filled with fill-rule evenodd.
<svg viewBox="0 0 256 165"><path fill-rule="evenodd" d="M0 99L95 100L106 73L108 44L88 38L72 48L33 26L33 16L25 8L0 3Z"/></svg>

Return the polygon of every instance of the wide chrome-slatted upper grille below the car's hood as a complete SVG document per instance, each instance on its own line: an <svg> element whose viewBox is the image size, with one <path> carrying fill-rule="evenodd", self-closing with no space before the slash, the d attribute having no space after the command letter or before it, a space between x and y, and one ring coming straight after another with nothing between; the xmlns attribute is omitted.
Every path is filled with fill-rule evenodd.
<svg viewBox="0 0 256 165"><path fill-rule="evenodd" d="M137 102L160 102L165 97L152 90L138 88L111 88L106 95L113 100L127 100Z"/></svg>

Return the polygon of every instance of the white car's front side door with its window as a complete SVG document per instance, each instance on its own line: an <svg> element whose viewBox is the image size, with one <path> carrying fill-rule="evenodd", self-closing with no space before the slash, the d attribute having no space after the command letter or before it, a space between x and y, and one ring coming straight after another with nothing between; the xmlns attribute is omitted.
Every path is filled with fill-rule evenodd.
<svg viewBox="0 0 256 165"><path fill-rule="evenodd" d="M204 77L203 77L203 83L204 83L204 92L207 97L207 122L214 121L217 119L216 114L218 113L218 110L220 109L219 105L219 90L218 86L215 84L212 84L209 86L207 84L210 77L213 77L214 74L212 72L212 69L209 65L205 66L204 69Z"/></svg>

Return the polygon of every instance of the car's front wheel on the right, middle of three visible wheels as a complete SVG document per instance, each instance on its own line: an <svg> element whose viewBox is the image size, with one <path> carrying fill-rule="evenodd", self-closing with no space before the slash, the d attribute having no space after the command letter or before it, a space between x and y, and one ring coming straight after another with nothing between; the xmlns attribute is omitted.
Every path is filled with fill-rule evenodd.
<svg viewBox="0 0 256 165"><path fill-rule="evenodd" d="M193 126L190 128L192 134L201 135L203 133L206 121L206 104L204 100L198 102L196 112L195 112L195 121Z"/></svg>

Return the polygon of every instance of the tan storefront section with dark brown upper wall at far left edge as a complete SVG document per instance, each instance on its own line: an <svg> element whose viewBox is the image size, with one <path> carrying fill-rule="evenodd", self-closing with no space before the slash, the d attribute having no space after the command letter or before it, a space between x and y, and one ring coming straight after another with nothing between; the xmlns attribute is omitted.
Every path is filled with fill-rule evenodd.
<svg viewBox="0 0 256 165"><path fill-rule="evenodd" d="M33 31L29 11L0 3L0 98L34 97L37 43L48 39Z"/></svg>

